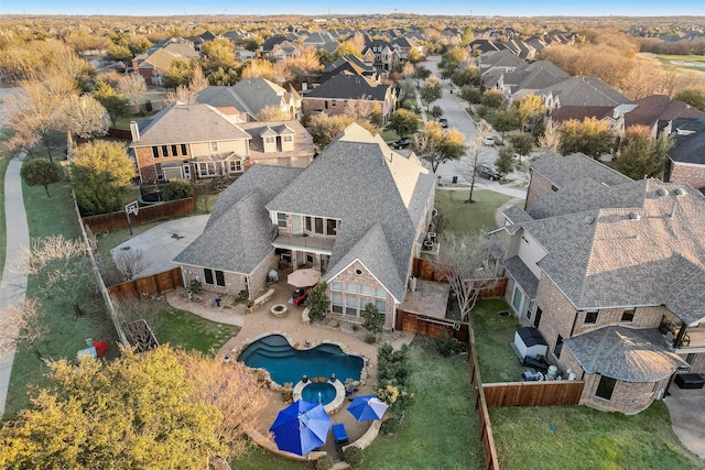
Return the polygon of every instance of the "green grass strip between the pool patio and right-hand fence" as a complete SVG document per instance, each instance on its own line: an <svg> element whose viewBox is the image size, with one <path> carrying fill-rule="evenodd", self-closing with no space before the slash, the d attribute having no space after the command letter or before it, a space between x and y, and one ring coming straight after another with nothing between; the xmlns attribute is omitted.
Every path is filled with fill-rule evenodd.
<svg viewBox="0 0 705 470"><path fill-rule="evenodd" d="M467 357L443 358L435 341L421 336L410 356L413 402L399 433L378 437L360 468L485 468Z"/></svg>

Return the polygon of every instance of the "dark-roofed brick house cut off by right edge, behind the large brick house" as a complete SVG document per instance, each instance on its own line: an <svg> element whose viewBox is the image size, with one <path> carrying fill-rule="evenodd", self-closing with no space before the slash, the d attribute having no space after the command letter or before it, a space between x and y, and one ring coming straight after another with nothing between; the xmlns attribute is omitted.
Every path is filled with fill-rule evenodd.
<svg viewBox="0 0 705 470"><path fill-rule="evenodd" d="M673 136L663 178L705 192L705 116L673 119L664 123L663 132Z"/></svg>

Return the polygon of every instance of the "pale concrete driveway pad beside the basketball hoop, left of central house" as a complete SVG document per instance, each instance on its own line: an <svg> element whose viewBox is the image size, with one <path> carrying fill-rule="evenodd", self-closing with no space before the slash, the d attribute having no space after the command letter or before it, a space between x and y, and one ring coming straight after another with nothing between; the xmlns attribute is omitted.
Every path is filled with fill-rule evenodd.
<svg viewBox="0 0 705 470"><path fill-rule="evenodd" d="M208 215L184 217L160 223L113 248L110 254L116 260L126 251L139 251L141 264L144 267L137 273L135 277L169 271L176 266L172 260L203 233L208 217Z"/></svg>

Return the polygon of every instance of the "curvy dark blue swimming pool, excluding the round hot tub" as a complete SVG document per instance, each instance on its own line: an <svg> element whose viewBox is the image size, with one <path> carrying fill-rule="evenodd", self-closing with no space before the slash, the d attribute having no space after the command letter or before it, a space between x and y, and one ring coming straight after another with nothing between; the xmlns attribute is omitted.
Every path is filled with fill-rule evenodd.
<svg viewBox="0 0 705 470"><path fill-rule="evenodd" d="M251 342L238 357L249 368L264 369L280 385L297 383L302 375L329 378L335 374L360 380L362 358L348 356L336 345L324 343L315 348L299 350L291 347L281 335L269 335Z"/></svg>

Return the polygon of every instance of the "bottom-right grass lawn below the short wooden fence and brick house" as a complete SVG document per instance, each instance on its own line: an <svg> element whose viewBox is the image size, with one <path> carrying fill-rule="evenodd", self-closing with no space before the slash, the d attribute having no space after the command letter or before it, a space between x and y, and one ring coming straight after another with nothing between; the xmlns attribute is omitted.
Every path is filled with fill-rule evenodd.
<svg viewBox="0 0 705 470"><path fill-rule="evenodd" d="M520 469L697 469L663 402L634 416L586 406L491 408L499 464Z"/></svg>

